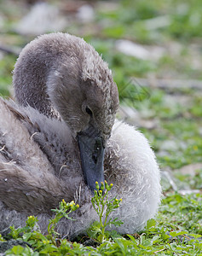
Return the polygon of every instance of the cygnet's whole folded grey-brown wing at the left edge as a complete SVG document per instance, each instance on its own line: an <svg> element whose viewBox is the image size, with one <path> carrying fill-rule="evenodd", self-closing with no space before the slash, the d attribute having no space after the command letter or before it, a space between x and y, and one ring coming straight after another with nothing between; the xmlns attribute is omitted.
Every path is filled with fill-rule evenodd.
<svg viewBox="0 0 202 256"><path fill-rule="evenodd" d="M64 196L69 200L73 195L55 176L46 154L23 122L35 129L23 111L0 99L0 200L19 211L27 207L31 212L40 208L45 211L58 205Z"/></svg>

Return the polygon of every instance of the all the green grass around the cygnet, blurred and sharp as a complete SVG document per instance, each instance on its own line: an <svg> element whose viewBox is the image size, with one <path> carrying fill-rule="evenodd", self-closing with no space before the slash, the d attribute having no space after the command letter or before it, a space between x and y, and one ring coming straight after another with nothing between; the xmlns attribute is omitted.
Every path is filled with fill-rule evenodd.
<svg viewBox="0 0 202 256"><path fill-rule="evenodd" d="M152 129L142 126L140 130L151 143L161 170L170 169L178 189L201 191L201 169L194 176L182 175L179 171L182 166L202 163L201 91L190 88L161 90L144 84L134 86L130 82L131 77L202 79L199 64L202 52L201 0L122 0L116 3L112 9L103 8L104 5L95 7L95 22L89 25L73 21L66 31L83 36L103 55L113 70L120 102L136 108L141 119L156 121ZM18 3L9 4L9 8L6 4L0 1L6 20L3 29L9 32L0 33L0 39L4 44L23 47L30 38L19 37L10 31L24 10ZM148 27L150 19L161 16L169 20L166 26ZM157 61L124 55L114 47L119 38L143 46L163 47L164 54ZM0 59L0 94L3 96L10 95L15 59L12 55L3 55ZM188 97L188 102L181 102L181 97ZM165 142L171 146L165 147ZM74 242L64 239L55 246L38 232L35 241L43 245L41 250L17 246L8 255L202 255L202 241L199 240L202 235L202 195L174 192L166 179L162 184L164 198L159 213L138 234L119 236L112 232L101 245L92 247L82 243L90 237L80 237L81 240ZM26 241L27 237L22 238Z"/></svg>

